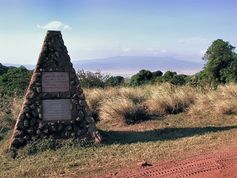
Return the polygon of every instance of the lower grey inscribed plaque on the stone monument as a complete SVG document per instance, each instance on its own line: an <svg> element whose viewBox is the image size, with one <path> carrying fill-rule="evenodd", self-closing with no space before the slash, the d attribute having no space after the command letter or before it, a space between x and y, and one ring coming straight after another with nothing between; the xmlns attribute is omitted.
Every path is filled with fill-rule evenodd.
<svg viewBox="0 0 237 178"><path fill-rule="evenodd" d="M43 120L71 120L71 102L70 99L42 100Z"/></svg>

